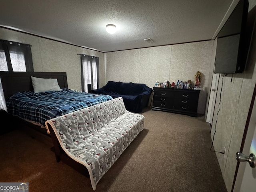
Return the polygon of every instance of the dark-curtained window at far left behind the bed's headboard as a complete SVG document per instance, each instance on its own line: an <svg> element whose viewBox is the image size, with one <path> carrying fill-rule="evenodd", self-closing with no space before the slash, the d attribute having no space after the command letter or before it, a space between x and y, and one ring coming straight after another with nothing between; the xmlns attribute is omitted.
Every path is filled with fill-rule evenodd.
<svg viewBox="0 0 256 192"><path fill-rule="evenodd" d="M34 71L30 45L0 40L0 71ZM1 80L0 94L0 109L7 110Z"/></svg>

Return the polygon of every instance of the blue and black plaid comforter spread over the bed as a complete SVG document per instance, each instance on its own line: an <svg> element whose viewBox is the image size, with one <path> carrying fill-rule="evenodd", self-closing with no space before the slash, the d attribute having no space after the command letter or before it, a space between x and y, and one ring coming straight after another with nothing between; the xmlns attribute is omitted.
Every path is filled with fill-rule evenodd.
<svg viewBox="0 0 256 192"><path fill-rule="evenodd" d="M9 114L45 127L46 120L111 99L109 95L78 93L64 88L41 93L18 92L8 98L6 106Z"/></svg>

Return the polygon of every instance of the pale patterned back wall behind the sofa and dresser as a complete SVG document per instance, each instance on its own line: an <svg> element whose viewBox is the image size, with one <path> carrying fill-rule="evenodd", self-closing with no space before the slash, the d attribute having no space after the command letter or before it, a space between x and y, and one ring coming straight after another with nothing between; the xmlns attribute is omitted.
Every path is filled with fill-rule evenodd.
<svg viewBox="0 0 256 192"><path fill-rule="evenodd" d="M164 80L175 84L178 80L194 82L196 72L200 71L203 90L198 113L204 114L213 44L214 41L204 41L105 53L106 82L144 83L153 87L156 81Z"/></svg>

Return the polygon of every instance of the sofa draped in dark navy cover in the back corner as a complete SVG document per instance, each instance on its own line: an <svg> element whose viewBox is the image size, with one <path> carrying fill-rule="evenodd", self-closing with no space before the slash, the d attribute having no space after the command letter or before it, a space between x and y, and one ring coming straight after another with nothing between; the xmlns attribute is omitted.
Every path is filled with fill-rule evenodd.
<svg viewBox="0 0 256 192"><path fill-rule="evenodd" d="M142 109L148 106L153 90L145 84L109 81L102 88L92 90L91 92L110 95L113 98L122 97L126 110L142 113Z"/></svg>

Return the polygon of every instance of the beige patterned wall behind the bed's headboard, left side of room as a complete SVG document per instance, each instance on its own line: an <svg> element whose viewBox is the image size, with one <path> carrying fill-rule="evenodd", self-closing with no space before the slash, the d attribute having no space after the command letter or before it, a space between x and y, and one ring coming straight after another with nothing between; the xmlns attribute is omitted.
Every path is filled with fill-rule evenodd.
<svg viewBox="0 0 256 192"><path fill-rule="evenodd" d="M0 39L32 45L34 71L66 72L68 88L81 90L80 55L87 54L99 57L100 87L105 84L104 54L102 52L72 46L46 38L0 28Z"/></svg>

